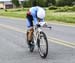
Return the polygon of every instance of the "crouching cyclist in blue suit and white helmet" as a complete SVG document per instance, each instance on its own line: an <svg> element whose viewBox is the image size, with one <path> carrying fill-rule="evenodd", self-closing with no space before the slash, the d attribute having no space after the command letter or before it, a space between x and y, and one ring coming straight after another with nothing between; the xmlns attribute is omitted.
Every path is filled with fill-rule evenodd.
<svg viewBox="0 0 75 63"><path fill-rule="evenodd" d="M26 15L26 24L28 27L28 45L32 45L32 34L33 34L33 25L37 25L38 22L44 22L45 10L40 6L31 7Z"/></svg>

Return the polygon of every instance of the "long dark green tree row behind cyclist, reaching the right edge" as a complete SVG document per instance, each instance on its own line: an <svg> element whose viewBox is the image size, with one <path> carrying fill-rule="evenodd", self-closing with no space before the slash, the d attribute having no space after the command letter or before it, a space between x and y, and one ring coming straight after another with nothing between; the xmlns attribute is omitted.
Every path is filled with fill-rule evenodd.
<svg viewBox="0 0 75 63"><path fill-rule="evenodd" d="M23 2L24 7L31 7L31 6L72 6L75 4L75 0L25 0Z"/></svg>

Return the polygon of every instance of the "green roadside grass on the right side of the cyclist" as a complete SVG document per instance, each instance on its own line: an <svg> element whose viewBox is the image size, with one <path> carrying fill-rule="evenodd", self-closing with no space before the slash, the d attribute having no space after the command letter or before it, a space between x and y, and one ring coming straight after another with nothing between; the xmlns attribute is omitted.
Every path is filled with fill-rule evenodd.
<svg viewBox="0 0 75 63"><path fill-rule="evenodd" d="M52 12L50 10L47 10L46 13L46 20L75 23L75 12Z"/></svg>

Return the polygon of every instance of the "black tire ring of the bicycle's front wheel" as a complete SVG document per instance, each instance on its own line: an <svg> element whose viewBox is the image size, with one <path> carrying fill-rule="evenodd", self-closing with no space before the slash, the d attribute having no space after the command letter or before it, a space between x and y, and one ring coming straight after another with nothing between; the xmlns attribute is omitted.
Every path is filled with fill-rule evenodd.
<svg viewBox="0 0 75 63"><path fill-rule="evenodd" d="M45 46L46 46L46 52L42 52L42 50L41 50L41 45L40 45L40 36L41 35L43 35L42 37L44 38L44 42L45 42ZM47 37L46 37L46 35L45 35L45 33L44 32L40 32L40 34L39 34L39 36L38 36L38 38L37 38L37 45L38 45L38 51L39 51L39 54L40 54L40 56L41 56L41 58L46 58L47 57L47 54L48 54L48 41L47 41Z"/></svg>

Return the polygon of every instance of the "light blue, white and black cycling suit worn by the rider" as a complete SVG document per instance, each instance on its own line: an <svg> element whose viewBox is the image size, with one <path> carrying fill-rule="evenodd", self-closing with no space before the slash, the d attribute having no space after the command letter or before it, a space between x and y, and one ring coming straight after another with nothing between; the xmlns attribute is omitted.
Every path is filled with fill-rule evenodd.
<svg viewBox="0 0 75 63"><path fill-rule="evenodd" d="M37 18L37 12L40 11L40 9L43 9L39 6L36 6L36 7L31 7L29 9L29 14L30 15L27 15L27 19L26 19L26 24L27 24L27 27L31 27L36 24L38 24L38 18ZM44 19L42 19L41 21L44 21Z"/></svg>

